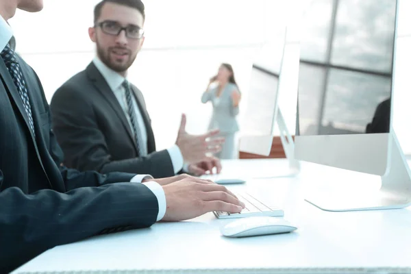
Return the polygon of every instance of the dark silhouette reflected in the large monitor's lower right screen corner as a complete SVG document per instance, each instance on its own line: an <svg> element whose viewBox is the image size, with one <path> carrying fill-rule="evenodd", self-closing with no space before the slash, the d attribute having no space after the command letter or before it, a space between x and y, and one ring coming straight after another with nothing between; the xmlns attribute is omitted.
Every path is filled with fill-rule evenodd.
<svg viewBox="0 0 411 274"><path fill-rule="evenodd" d="M366 133L388 133L390 132L391 99L382 101L377 106L373 121L366 125Z"/></svg>

